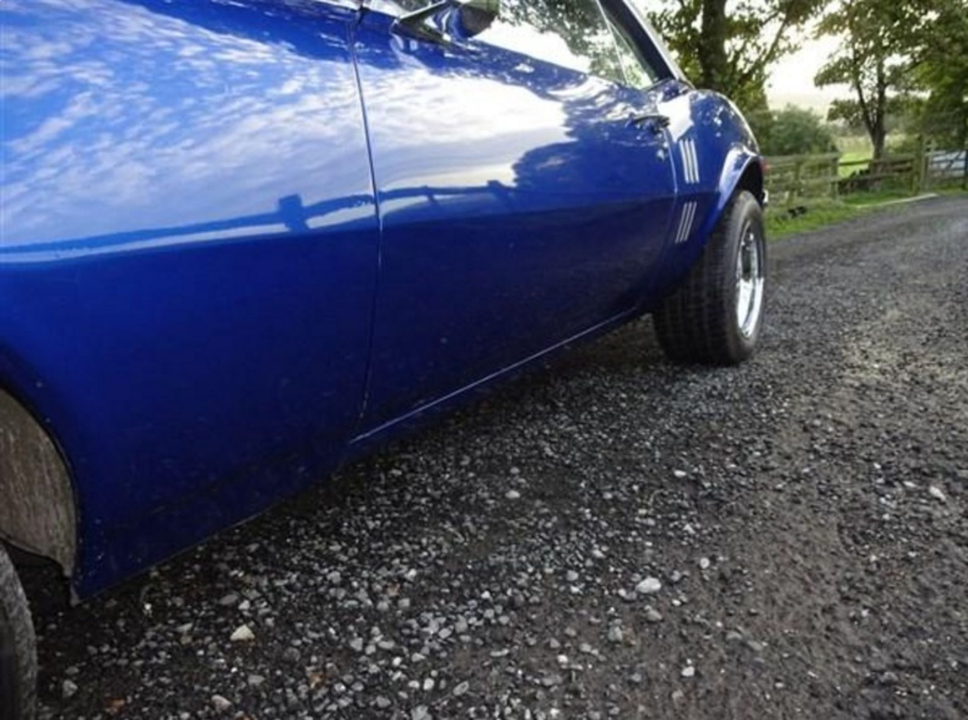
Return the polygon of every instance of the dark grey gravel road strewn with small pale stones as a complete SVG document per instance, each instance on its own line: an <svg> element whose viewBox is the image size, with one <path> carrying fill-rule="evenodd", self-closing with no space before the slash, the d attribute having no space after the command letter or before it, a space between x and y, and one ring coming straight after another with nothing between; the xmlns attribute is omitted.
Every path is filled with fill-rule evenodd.
<svg viewBox="0 0 968 720"><path fill-rule="evenodd" d="M41 607L43 717L968 717L968 201L771 265L739 369L635 323Z"/></svg>

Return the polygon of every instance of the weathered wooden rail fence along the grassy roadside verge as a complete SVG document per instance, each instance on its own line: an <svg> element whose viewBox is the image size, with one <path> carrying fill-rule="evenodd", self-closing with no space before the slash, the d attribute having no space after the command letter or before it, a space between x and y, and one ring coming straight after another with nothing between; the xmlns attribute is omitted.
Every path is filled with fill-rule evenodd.
<svg viewBox="0 0 968 720"><path fill-rule="evenodd" d="M780 206L854 193L917 194L957 184L968 187L968 150L895 154L876 161L845 161L839 153L767 159L767 189Z"/></svg>

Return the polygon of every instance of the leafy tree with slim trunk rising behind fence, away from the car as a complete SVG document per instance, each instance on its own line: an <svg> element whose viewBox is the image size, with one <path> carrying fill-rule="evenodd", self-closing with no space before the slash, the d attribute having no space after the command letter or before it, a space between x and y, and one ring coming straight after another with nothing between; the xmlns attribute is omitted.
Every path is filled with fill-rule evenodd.
<svg viewBox="0 0 968 720"><path fill-rule="evenodd" d="M818 26L840 36L838 50L814 78L819 86L846 83L854 97L832 103L828 118L862 126L883 157L888 116L903 109L913 89L915 49L928 7L937 0L841 0ZM956 0L961 2L961 0Z"/></svg>

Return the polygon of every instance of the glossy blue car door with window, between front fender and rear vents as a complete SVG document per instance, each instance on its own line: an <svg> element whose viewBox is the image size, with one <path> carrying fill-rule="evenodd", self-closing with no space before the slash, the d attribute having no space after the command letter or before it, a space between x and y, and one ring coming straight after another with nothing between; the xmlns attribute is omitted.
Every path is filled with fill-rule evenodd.
<svg viewBox="0 0 968 720"><path fill-rule="evenodd" d="M381 222L364 430L631 311L675 200L597 0L505 0L459 43L403 12L373 3L355 45Z"/></svg>

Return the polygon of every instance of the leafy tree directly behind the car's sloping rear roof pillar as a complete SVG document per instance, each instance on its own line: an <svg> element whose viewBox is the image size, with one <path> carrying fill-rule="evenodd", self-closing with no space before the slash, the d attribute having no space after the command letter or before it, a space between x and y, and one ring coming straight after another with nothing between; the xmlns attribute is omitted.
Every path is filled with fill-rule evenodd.
<svg viewBox="0 0 968 720"><path fill-rule="evenodd" d="M646 5L644 0L633 1ZM771 64L796 49L793 31L823 4L824 0L659 0L658 9L649 15L697 84L729 96L743 110L756 111L767 106L764 85Z"/></svg>

